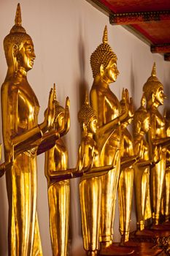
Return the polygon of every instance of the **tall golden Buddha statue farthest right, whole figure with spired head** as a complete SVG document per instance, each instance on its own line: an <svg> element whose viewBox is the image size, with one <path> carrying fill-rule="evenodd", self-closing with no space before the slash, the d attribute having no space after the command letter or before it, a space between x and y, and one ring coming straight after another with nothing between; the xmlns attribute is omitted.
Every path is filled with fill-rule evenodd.
<svg viewBox="0 0 170 256"><path fill-rule="evenodd" d="M163 183L166 172L166 147L170 144L170 138L166 137L166 124L158 107L163 105L165 94L163 85L156 77L155 64L152 74L143 86L144 97L147 101L147 113L150 114L150 130L148 138L150 143L150 154L155 157L159 151L159 161L150 169L150 193L152 220L154 225L160 222L161 198L163 195ZM159 149L160 148L160 149Z"/></svg>

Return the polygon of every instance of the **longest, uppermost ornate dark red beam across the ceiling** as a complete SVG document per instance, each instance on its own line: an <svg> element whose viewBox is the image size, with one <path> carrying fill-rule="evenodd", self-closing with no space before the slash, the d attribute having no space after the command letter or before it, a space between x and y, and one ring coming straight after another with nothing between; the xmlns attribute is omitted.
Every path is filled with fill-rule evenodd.
<svg viewBox="0 0 170 256"><path fill-rule="evenodd" d="M155 12L121 12L109 15L112 25L132 25L144 22L170 20L170 11Z"/></svg>

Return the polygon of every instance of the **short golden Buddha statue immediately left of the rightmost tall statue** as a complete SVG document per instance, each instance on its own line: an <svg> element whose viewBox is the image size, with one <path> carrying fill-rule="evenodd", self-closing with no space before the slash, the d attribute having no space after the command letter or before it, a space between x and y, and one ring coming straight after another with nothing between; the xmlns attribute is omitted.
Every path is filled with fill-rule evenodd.
<svg viewBox="0 0 170 256"><path fill-rule="evenodd" d="M146 99L134 114L134 153L139 154L134 165L134 191L136 198L137 230L144 230L144 222L152 217L150 207L150 146L145 135L150 129L150 114L145 108Z"/></svg>

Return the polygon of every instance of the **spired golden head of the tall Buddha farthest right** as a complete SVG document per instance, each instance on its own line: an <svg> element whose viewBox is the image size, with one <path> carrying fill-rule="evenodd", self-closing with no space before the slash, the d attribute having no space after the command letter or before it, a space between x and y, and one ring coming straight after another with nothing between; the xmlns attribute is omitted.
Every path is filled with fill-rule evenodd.
<svg viewBox="0 0 170 256"><path fill-rule="evenodd" d="M166 98L163 94L163 85L156 77L156 66L155 63L152 67L152 73L150 78L147 79L147 82L143 86L144 96L147 100L147 108L150 108L151 105L159 106L163 105L163 101Z"/></svg>

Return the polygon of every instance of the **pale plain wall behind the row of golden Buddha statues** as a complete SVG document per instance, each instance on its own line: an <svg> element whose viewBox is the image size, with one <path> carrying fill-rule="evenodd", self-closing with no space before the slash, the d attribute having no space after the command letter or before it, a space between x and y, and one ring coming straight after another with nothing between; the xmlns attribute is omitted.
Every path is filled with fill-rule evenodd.
<svg viewBox="0 0 170 256"><path fill-rule="evenodd" d="M12 28L18 0L0 1L0 84L3 83L7 64L4 58L3 39ZM71 101L71 129L66 135L69 148L69 167L77 160L80 127L77 112L82 89L93 83L90 54L101 43L104 26L108 26L109 44L117 54L120 75L111 88L120 99L123 87L128 88L139 106L142 86L150 76L153 61L157 64L158 78L169 94L170 63L163 56L150 53L150 47L121 26L109 25L109 19L85 0L20 0L23 27L31 35L36 52L34 69L28 72L41 106L39 123L47 106L48 93L57 84L58 99L64 104L68 95ZM168 100L166 101L168 105ZM2 138L1 138L2 141ZM7 255L7 193L5 178L0 180L0 255ZM47 182L44 176L44 157L38 157L38 213L42 246L45 256L52 255L48 229ZM71 200L72 255L84 255L82 249L78 180L72 180ZM132 212L131 229L136 227ZM118 210L115 219L115 241L119 239Z"/></svg>

